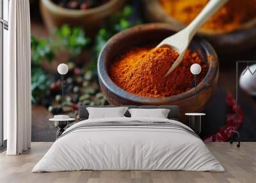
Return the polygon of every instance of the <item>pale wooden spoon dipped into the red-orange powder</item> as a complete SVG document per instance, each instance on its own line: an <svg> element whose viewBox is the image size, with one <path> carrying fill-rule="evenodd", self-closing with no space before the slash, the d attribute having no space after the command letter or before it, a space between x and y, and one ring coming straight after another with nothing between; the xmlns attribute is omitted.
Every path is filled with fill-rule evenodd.
<svg viewBox="0 0 256 183"><path fill-rule="evenodd" d="M211 17L217 10L221 8L228 0L211 0L206 4L202 12L184 29L175 33L175 35L165 38L157 47L170 47L175 51L179 52L179 57L173 63L172 67L169 68L165 76L168 76L182 61L184 54L188 48L196 31L200 29L202 24Z"/></svg>

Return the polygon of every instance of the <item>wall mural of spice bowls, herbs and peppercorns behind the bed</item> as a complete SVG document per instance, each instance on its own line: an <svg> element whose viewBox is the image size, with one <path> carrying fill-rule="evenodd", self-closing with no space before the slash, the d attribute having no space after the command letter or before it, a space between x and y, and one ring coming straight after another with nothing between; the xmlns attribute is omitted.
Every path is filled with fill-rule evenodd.
<svg viewBox="0 0 256 183"><path fill-rule="evenodd" d="M30 0L32 141L54 141L56 127L47 123L52 115L78 118L81 105L109 104L179 105L184 123L188 123L184 113L206 114L200 134L205 141L228 141L235 130L242 140L256 139L255 65L244 63L236 70L237 60L256 60L254 0L244 1L243 7L234 0L221 8L204 24L182 64L167 77L161 76L168 70L168 60L159 56L148 64L154 58L152 48L191 22L207 1L122 0L109 6L110 1ZM132 28L148 22L169 26ZM130 28L126 35L120 33ZM118 37L108 42L116 33ZM148 58L142 56L145 53ZM176 53L163 48L161 54L175 57ZM62 104L60 63L68 66ZM202 69L196 80L190 70L193 63ZM250 75L243 71L248 68L252 68ZM241 76L239 106L236 71Z"/></svg>

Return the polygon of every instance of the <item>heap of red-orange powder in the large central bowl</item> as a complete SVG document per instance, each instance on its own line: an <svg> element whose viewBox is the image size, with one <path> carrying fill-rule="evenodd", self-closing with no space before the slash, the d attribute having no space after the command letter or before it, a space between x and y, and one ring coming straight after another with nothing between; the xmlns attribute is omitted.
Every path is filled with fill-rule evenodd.
<svg viewBox="0 0 256 183"><path fill-rule="evenodd" d="M194 76L190 72L193 63L202 67L198 83L207 72L207 65L202 63L198 54L187 51L179 67L165 77L178 56L178 52L168 47L133 48L109 65L109 76L120 88L142 97L177 95L193 88Z"/></svg>

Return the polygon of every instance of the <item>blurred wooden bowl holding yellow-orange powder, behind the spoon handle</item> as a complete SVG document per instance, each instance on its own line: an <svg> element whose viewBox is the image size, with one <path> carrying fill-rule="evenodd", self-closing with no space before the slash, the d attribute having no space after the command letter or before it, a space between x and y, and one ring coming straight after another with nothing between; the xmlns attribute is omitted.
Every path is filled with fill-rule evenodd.
<svg viewBox="0 0 256 183"><path fill-rule="evenodd" d="M166 22L175 31L185 28L186 24L168 15L158 0L143 0L143 3L145 19L148 21ZM209 41L218 54L236 54L256 45L256 18L234 31L200 30L198 35Z"/></svg>

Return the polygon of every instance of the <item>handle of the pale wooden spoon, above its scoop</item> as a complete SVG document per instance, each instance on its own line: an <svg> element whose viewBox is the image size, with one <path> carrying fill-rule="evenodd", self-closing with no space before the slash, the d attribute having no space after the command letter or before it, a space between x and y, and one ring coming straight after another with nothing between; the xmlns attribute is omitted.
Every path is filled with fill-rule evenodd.
<svg viewBox="0 0 256 183"><path fill-rule="evenodd" d="M206 22L215 12L217 12L221 6L227 3L228 0L211 0L206 4L204 9L197 15L197 17L186 27L186 31L189 32L189 42L200 29L202 24Z"/></svg>

